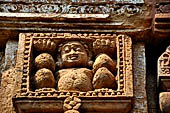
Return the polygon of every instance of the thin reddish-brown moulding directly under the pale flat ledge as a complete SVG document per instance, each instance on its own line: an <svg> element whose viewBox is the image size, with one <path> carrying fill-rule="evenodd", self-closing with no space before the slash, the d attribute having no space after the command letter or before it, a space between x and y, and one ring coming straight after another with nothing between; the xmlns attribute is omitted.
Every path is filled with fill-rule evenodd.
<svg viewBox="0 0 170 113"><path fill-rule="evenodd" d="M0 21L0 28L87 28L87 29L136 29L131 25L123 25L123 22L23 22L23 21Z"/></svg>

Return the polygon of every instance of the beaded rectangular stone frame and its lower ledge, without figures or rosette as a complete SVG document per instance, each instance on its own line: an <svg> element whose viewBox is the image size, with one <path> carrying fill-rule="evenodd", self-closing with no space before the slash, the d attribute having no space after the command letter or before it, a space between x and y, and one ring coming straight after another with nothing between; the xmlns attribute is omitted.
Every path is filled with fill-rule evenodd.
<svg viewBox="0 0 170 113"><path fill-rule="evenodd" d="M117 79L118 89L100 89L88 92L61 92L53 88L32 91L30 88L30 69L33 56L33 41L51 40L90 40L116 38L117 46ZM132 41L126 35L116 34L70 34L70 33L21 33L17 54L17 74L21 78L21 89L13 97L16 111L30 112L63 112L63 101L66 97L76 96L82 100L84 112L129 112L133 97L132 74Z"/></svg>

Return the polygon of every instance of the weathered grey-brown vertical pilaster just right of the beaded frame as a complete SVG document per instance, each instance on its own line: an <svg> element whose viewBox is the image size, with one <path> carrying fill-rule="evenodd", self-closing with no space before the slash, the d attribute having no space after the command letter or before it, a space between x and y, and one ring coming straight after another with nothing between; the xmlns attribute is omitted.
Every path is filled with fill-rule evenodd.
<svg viewBox="0 0 170 113"><path fill-rule="evenodd" d="M146 61L144 43L133 47L134 99L131 113L147 113Z"/></svg>

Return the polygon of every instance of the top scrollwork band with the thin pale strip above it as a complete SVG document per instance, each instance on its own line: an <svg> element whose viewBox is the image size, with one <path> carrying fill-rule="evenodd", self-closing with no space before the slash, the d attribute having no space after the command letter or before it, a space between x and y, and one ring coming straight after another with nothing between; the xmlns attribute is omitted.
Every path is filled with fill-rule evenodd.
<svg viewBox="0 0 170 113"><path fill-rule="evenodd" d="M0 4L6 13L135 15L144 0L17 0Z"/></svg>

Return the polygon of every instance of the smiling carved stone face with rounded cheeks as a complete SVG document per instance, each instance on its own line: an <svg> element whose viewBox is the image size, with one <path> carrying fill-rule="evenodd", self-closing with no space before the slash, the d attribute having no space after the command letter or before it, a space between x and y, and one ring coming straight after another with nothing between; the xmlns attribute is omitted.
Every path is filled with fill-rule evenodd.
<svg viewBox="0 0 170 113"><path fill-rule="evenodd" d="M61 49L63 67L85 67L88 56L84 46L77 41L68 42Z"/></svg>

